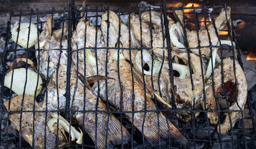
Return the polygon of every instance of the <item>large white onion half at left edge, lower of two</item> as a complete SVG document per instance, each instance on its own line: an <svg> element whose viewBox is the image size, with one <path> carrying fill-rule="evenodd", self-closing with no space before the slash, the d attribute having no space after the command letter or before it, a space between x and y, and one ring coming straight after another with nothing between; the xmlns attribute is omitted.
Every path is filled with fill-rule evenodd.
<svg viewBox="0 0 256 149"><path fill-rule="evenodd" d="M13 73L13 75L12 75ZM27 73L27 78L26 78ZM38 83L37 83L37 77ZM11 84L12 81L12 84ZM26 82L27 81L27 82ZM28 96L34 97L35 91L36 96L40 93L42 89L42 78L35 71L29 70L26 68L17 68L9 71L4 78L4 86L12 89L14 93L17 95L21 95L24 93L24 86L26 83L25 94Z"/></svg>

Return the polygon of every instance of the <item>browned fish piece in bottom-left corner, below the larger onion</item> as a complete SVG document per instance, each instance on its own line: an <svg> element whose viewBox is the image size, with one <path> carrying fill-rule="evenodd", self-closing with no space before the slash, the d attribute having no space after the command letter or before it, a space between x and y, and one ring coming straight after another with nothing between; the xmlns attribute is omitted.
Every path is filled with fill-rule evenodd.
<svg viewBox="0 0 256 149"><path fill-rule="evenodd" d="M10 101L10 111L21 111L22 95L16 96ZM34 97L24 95L23 101L23 111L33 111L35 104L35 110L39 111L40 108L37 102L34 103ZM4 102L6 109L9 107L9 101ZM28 142L32 147L33 133L34 133L34 148L59 148L64 147L68 140L60 132L58 133L57 142L57 132L50 132L47 124L45 122L45 114L43 112L35 112L35 117L33 117L33 112L22 112L21 119L21 130L20 130L20 117L19 113L9 114L9 120L11 121L12 128L16 129L21 133L21 136ZM34 119L33 119L34 118ZM47 114L47 120L50 119L50 114ZM34 121L34 132L33 132L33 121ZM46 125L46 134L45 131ZM46 138L46 146L44 146L44 139Z"/></svg>

